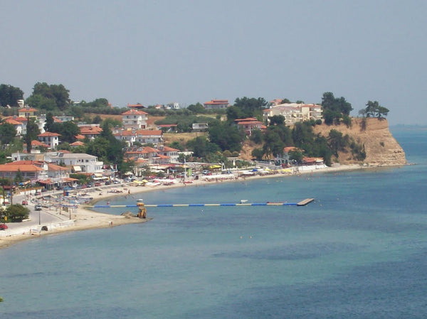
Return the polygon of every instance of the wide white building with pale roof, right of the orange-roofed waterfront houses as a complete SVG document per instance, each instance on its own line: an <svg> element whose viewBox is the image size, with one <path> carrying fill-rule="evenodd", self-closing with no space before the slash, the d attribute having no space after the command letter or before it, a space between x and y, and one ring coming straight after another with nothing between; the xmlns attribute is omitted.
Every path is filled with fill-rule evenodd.
<svg viewBox="0 0 427 319"><path fill-rule="evenodd" d="M57 165L65 164L74 173L102 173L104 163L98 161L96 156L85 153L51 153L46 155L46 160L50 159Z"/></svg>

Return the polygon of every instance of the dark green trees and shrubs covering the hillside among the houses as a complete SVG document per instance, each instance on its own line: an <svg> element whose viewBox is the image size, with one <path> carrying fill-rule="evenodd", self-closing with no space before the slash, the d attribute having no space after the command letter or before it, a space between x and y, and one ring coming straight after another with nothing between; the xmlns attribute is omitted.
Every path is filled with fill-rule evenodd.
<svg viewBox="0 0 427 319"><path fill-rule="evenodd" d="M9 116L16 114L18 107L16 101L22 99L23 92L18 87L11 85L0 85L0 104L4 106L2 114ZM283 102L290 102L283 99ZM298 101L302 102L302 101ZM112 136L111 128L120 126L120 121L107 120L98 115L93 118L92 114L122 114L123 108L111 107L105 98L95 99L93 102L72 102L69 97L69 90L63 85L49 85L46 82L38 82L33 87L32 94L26 99L26 104L40 110L46 115L47 131L56 132L61 135L60 148L69 149L75 152L89 153L100 158L105 163L117 164L122 170L128 169L129 163L123 161L122 149L124 144L117 141ZM10 106L6 107L6 106ZM234 125L235 119L253 117L263 121L263 109L268 107L268 102L262 97L239 97L233 105L225 110L205 109L199 102L189 105L186 109L157 109L150 106L144 109L149 115L163 116L164 119L156 124L177 124L177 131L189 132L192 124L206 122L209 124L206 136L197 136L195 139L182 142L174 142L172 147L179 150L190 150L194 156L200 160L214 161L223 160L225 155L236 155L241 151L243 142L247 139L257 146L253 150L255 158L280 158L283 156L285 146L295 146L300 151L291 154L292 159L301 161L302 156L315 156L325 158L327 164L334 161L339 152L349 152L353 158L362 160L366 154L364 147L358 145L351 137L342 136L339 131L331 129L328 136L319 136L313 133L312 127L320 124L320 121L307 121L296 123L294 126L285 126L284 117L274 116L270 118L265 131L253 131L250 137L246 136ZM352 104L344 97L334 97L332 92L325 92L322 96L322 109L325 124L337 125L344 123L352 125L349 117L352 112ZM367 107L359 112L363 117L376 117L383 119L388 114L389 109L381 107L379 102L367 102ZM75 121L87 121L101 124L102 134L93 141L85 141L85 146L70 148L70 144L75 141L75 135L79 129L75 122L64 122L58 124L53 121L53 116L65 114L75 117ZM221 117L226 115L226 121L221 121ZM267 123L265 123L267 125ZM23 141L18 141L14 136L14 129L11 124L2 123L0 125L0 140L4 147L0 151L0 163L15 151L14 147L22 147L22 143L27 144L27 151L31 151L31 140L36 139L38 128L33 121L28 121L27 134Z"/></svg>

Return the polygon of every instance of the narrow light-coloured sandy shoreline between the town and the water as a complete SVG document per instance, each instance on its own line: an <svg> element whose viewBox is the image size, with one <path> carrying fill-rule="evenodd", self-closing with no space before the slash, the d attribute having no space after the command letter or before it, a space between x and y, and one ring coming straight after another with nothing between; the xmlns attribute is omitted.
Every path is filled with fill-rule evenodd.
<svg viewBox="0 0 427 319"><path fill-rule="evenodd" d="M93 200L90 200L88 202L89 205L95 205L96 202L99 202L100 200L106 200L109 198L116 198L119 196L126 196L126 195L132 195L140 194L140 193L146 193L150 191L156 191L156 190L165 190L170 188L182 188L182 187L194 187L194 186L200 186L200 185L210 185L210 184L217 184L217 183L233 183L233 182L239 182L241 180L257 180L260 178L286 178L288 176L295 176L295 175L307 175L307 174L317 174L317 173L337 173L337 172L344 172L344 171L357 171L361 169L378 169L378 168L393 168L396 166L402 166L402 165L390 165L390 166L361 166L359 164L354 165L341 165L336 167L326 167L326 168L315 168L315 169L305 169L302 171L299 171L297 174L289 174L289 173L275 173L270 175L254 175L246 178L238 178L238 179L223 179L221 182L218 180L206 180L206 179L199 179L199 180L193 180L193 183L190 184L184 184L179 181L179 183L174 183L173 185L156 185L156 186L134 186L134 185L127 185L127 184L120 184L120 185L110 185L107 188L102 188L102 190L92 190L93 193ZM214 175L216 176L216 175ZM218 175L218 179L221 178L221 175ZM130 183L132 184L132 183ZM122 190L120 193L109 193L109 190ZM38 238L46 235L57 235L62 234L64 232L74 232L74 231L81 231L86 229L100 229L100 228L109 228L109 227L117 227L121 225L128 225L128 224L136 224L136 223L142 223L147 222L151 220L151 218L147 219L141 219L138 217L125 217L122 215L111 215L103 212L95 212L93 210L90 210L88 207L84 207L85 205L79 205L78 208L75 210L75 212L72 212L70 214L70 217L73 218L73 223L68 222L66 226L59 226L59 227L53 227L51 229L48 229L48 231L41 231L40 225L38 227L31 227L31 226L23 226L19 227L20 229L19 234L11 234L9 236L1 236L0 234L0 249L4 249L6 247L9 247L13 244L23 242L28 239L32 238ZM57 223L59 224L59 223ZM65 222L64 222L65 224ZM49 225L51 227L52 225ZM38 229L34 232L33 229ZM21 232L22 231L22 232ZM5 231L1 231L5 232Z"/></svg>

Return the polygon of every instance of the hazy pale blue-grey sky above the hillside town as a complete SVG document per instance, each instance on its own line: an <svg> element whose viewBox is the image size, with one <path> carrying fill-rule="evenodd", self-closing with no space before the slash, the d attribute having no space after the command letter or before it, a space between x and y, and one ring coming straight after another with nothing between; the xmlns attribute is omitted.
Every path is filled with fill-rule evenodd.
<svg viewBox="0 0 427 319"><path fill-rule="evenodd" d="M427 1L2 0L0 83L117 107L263 97L427 124Z"/></svg>

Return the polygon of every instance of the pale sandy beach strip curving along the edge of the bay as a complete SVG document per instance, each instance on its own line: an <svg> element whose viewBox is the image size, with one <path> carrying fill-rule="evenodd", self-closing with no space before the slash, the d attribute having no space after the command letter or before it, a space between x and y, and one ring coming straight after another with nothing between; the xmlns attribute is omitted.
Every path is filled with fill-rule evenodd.
<svg viewBox="0 0 427 319"><path fill-rule="evenodd" d="M109 185L102 188L96 189L86 189L88 192L91 192L93 195L93 200L90 202L90 205L93 205L95 202L99 200L105 200L107 198L117 197L117 196L132 196L135 198L135 202L137 200L137 196L135 194L144 193L153 190L164 190L168 188L176 188L176 187L193 187L197 185L209 185L211 183L218 182L233 182L233 181L241 181L243 178L248 178L248 180L253 180L257 178L279 178L285 177L288 175L297 174L307 174L307 173L329 173L329 172L339 172L339 171L353 171L362 168L367 168L367 166L360 165L345 165L345 166L336 166L336 167L300 167L297 172L290 170L283 170L278 172L261 172L262 174L256 175L253 172L248 173L248 175L243 175L242 177L238 177L236 175L209 175L205 178L199 178L199 180L187 180L184 183L183 180L175 180L174 183L166 183L163 185L162 183L151 183L146 185L138 184L138 183L130 183L129 185ZM247 171L251 172L251 171ZM231 178L234 176L234 178ZM143 186L144 185L144 186ZM82 190L80 190L81 192ZM149 220L149 218L147 219ZM140 219L138 217L125 217L121 215L110 215L102 212L94 212L89 210L87 207L83 207L79 205L78 208L71 213L70 219L63 218L63 220L58 222L53 222L49 224L36 225L33 223L32 225L22 225L22 227L14 228L14 229L6 229L0 231L0 249L7 247L16 242L20 242L22 240L36 238L39 236L43 236L46 234L60 234L63 232L73 232L76 230L84 230L84 229L94 229L94 228L107 228L107 227L115 227L119 225L133 224L139 222L146 222L147 220ZM46 230L42 230L42 227L45 226ZM45 228L45 229L46 229Z"/></svg>

